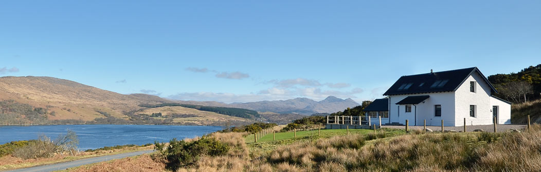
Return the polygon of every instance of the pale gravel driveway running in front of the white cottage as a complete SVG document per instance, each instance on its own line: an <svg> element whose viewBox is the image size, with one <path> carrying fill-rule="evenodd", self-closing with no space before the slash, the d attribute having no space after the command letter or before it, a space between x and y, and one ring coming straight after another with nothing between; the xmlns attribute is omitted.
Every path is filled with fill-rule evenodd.
<svg viewBox="0 0 541 172"><path fill-rule="evenodd" d="M405 129L405 126L382 126L383 128L399 128L399 129ZM497 125L496 126L496 131L497 132L506 132L508 131L509 129L523 129L525 128L526 125ZM423 129L423 126L410 126L409 127L410 130L415 130L415 129ZM434 132L436 131L441 131L441 126L426 126L426 128L430 128L432 129ZM447 126L444 126L443 128L444 130L456 130L457 132L458 131L463 131L464 130L464 127L461 126L461 127L447 127ZM483 129L485 130L485 132L493 132L494 131L494 126L493 125L480 125L480 126L466 126L466 131L467 132L473 132L474 129Z"/></svg>

